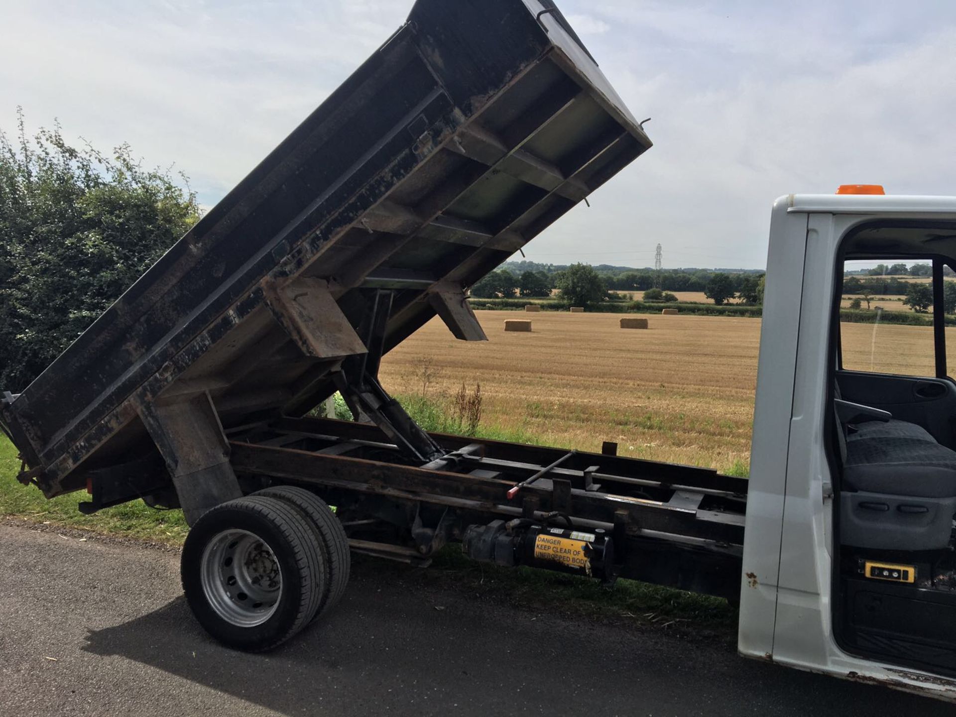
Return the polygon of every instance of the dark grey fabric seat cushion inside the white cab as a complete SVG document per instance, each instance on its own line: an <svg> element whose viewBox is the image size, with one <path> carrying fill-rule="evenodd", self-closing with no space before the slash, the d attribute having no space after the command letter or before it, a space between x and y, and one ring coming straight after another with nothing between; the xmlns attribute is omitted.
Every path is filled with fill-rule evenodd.
<svg viewBox="0 0 956 717"><path fill-rule="evenodd" d="M850 489L923 498L956 496L956 451L904 421L855 426L843 478Z"/></svg>

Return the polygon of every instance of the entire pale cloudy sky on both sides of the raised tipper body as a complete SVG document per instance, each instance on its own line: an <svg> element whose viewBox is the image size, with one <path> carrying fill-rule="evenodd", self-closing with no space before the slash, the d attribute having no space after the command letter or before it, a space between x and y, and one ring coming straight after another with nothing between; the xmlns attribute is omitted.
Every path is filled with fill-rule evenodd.
<svg viewBox="0 0 956 717"><path fill-rule="evenodd" d="M660 243L665 268L759 269L780 195L956 194L952 0L558 5L655 145L532 261L644 267ZM411 6L0 0L0 129L22 106L28 131L129 142L213 206Z"/></svg>

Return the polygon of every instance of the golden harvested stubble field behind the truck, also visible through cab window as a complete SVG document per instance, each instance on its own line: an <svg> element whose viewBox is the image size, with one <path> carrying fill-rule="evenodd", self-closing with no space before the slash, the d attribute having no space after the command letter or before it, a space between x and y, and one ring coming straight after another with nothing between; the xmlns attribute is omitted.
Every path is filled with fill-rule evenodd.
<svg viewBox="0 0 956 717"><path fill-rule="evenodd" d="M760 319L655 315L649 330L622 330L620 315L541 313L521 334L503 331L513 312L477 315L488 342L457 341L434 319L382 361L385 387L441 398L481 383L483 424L548 445L616 441L624 455L747 469ZM932 374L928 327L842 330L848 368Z"/></svg>

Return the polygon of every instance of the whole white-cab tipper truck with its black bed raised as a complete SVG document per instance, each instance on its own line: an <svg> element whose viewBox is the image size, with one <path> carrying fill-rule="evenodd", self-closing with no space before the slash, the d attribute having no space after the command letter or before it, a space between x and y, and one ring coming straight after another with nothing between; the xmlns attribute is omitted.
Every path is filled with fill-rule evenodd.
<svg viewBox="0 0 956 717"><path fill-rule="evenodd" d="M84 512L182 508L185 597L241 649L326 614L351 552L424 565L458 541L739 600L745 656L956 699L956 199L852 185L773 205L749 479L613 443L428 433L382 388L382 356L436 315L486 340L468 288L650 147L550 0L418 0L41 376L6 387L20 481L85 489ZM933 311L907 327L928 370L844 346L845 263L900 260L932 267ZM310 417L337 391L356 421Z"/></svg>

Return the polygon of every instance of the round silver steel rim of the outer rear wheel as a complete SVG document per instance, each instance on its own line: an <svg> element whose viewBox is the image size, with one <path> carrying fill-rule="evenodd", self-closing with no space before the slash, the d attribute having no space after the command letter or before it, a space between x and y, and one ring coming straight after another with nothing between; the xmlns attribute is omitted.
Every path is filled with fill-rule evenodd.
<svg viewBox="0 0 956 717"><path fill-rule="evenodd" d="M200 567L206 600L237 627L272 618L282 597L282 571L272 548L249 531L219 532L206 543Z"/></svg>

